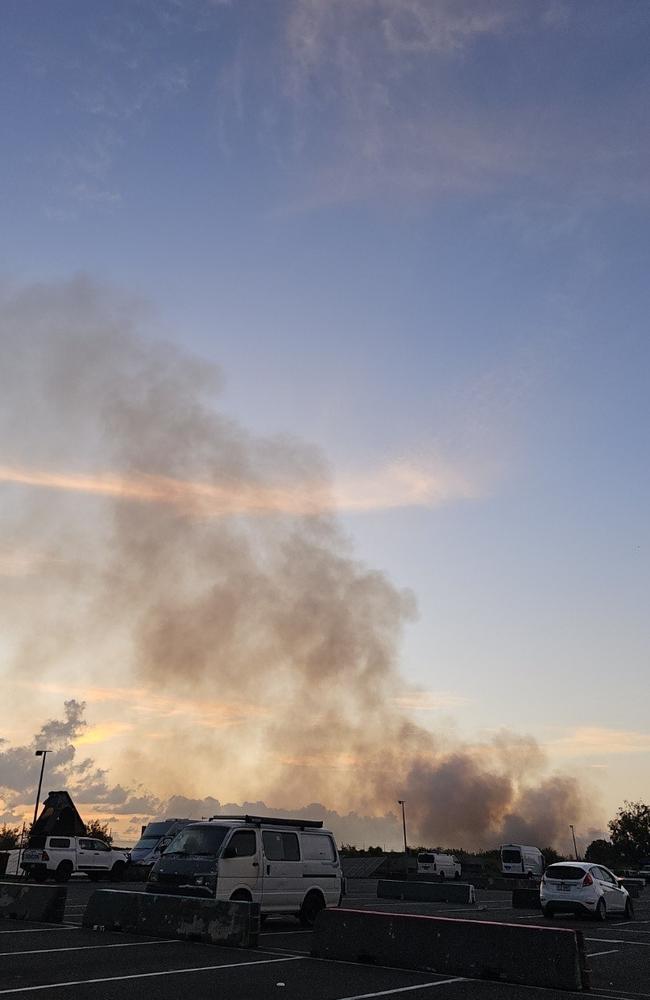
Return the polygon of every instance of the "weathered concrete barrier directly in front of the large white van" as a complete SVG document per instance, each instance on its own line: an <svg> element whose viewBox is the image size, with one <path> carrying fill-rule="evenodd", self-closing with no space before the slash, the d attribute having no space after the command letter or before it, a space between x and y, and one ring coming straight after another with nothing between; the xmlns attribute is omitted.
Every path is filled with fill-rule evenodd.
<svg viewBox="0 0 650 1000"><path fill-rule="evenodd" d="M230 948L256 948L260 908L258 903L97 889L86 906L83 926L152 937L186 938Z"/></svg>

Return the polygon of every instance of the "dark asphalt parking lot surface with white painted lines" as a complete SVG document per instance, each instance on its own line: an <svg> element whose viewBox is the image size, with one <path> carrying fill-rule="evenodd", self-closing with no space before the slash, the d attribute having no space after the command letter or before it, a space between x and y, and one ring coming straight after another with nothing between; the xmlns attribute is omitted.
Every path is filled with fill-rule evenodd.
<svg viewBox="0 0 650 1000"><path fill-rule="evenodd" d="M81 927L82 914L95 888L85 879L69 883L63 926L0 922L0 996L51 994L73 1000L135 1000L145 994L172 1000L187 994L196 1000L370 1000L403 994L413 1000L560 1000L578 995L314 959L310 957L311 931L293 919L267 920L259 948L251 950L85 930ZM137 890L142 886L114 888ZM513 910L505 892L481 892L475 906L405 903L377 900L375 880L351 881L344 905L505 923L545 923L540 913ZM635 911L633 921L598 924L556 918L553 922L583 931L592 996L608 1000L650 998L650 895L647 901L636 901Z"/></svg>

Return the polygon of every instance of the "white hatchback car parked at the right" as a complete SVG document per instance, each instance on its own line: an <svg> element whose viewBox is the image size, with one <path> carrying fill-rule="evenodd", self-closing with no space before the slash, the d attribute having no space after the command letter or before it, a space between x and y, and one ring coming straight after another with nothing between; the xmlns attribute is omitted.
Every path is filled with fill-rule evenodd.
<svg viewBox="0 0 650 1000"><path fill-rule="evenodd" d="M588 913L596 920L605 920L618 913L630 919L634 916L627 889L616 875L603 865L586 861L562 861L549 865L539 887L542 913Z"/></svg>

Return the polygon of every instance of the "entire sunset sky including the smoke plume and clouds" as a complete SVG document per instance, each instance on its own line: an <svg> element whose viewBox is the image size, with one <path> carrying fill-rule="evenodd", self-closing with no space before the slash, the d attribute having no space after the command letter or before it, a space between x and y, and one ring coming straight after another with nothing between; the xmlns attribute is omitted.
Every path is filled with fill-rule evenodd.
<svg viewBox="0 0 650 1000"><path fill-rule="evenodd" d="M647 800L649 33L5 0L0 822Z"/></svg>

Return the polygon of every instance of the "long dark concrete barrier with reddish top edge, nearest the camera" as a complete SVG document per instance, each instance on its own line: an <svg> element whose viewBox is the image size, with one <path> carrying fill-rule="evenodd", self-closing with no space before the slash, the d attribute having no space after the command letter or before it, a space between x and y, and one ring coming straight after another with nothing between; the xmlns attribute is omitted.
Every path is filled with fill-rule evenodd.
<svg viewBox="0 0 650 1000"><path fill-rule="evenodd" d="M368 910L321 910L316 958L394 965L549 989L588 989L584 940L569 928Z"/></svg>

